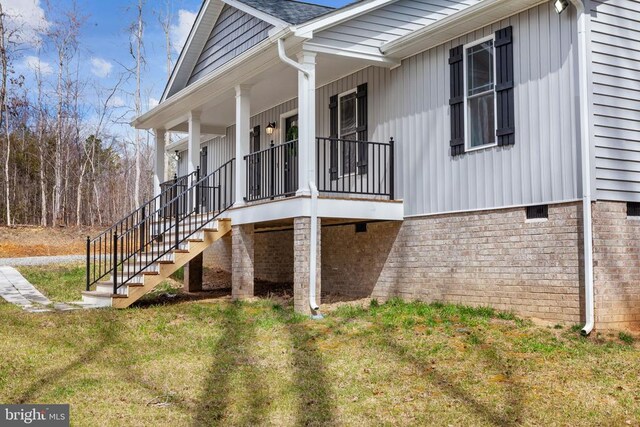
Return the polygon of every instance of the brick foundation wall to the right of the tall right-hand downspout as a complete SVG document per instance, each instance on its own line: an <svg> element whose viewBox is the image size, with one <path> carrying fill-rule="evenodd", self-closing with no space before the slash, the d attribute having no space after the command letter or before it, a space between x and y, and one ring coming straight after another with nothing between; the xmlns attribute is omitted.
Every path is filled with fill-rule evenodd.
<svg viewBox="0 0 640 427"><path fill-rule="evenodd" d="M598 329L640 329L640 221L627 204L593 204L593 263Z"/></svg>

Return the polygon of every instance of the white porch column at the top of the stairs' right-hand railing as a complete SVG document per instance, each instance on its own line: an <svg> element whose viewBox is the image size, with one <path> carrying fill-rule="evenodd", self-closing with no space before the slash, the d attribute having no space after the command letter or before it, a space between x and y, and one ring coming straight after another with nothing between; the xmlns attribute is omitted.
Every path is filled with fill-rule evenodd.
<svg viewBox="0 0 640 427"><path fill-rule="evenodd" d="M251 86L236 86L236 194L235 205L244 204L247 188L246 162L249 154L249 119L251 115Z"/></svg>

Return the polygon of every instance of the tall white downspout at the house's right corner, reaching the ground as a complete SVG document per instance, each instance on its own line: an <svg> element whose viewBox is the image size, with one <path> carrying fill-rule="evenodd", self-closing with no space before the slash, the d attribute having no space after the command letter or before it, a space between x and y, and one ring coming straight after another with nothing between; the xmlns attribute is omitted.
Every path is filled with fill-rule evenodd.
<svg viewBox="0 0 640 427"><path fill-rule="evenodd" d="M571 0L578 12L578 79L580 85L580 147L582 155L582 216L584 234L584 312L585 324L580 333L589 335L595 325L593 289L593 236L591 219L591 142L590 105L587 73L587 15L582 0Z"/></svg>

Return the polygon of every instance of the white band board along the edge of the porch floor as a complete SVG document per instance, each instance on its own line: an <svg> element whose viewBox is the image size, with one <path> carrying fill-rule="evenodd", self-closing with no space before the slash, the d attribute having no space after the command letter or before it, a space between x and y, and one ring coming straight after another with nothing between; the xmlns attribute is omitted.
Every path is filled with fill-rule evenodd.
<svg viewBox="0 0 640 427"><path fill-rule="evenodd" d="M292 197L256 205L231 208L226 212L234 224L254 224L311 215L311 197ZM402 221L402 201L318 198L318 217L357 220Z"/></svg>

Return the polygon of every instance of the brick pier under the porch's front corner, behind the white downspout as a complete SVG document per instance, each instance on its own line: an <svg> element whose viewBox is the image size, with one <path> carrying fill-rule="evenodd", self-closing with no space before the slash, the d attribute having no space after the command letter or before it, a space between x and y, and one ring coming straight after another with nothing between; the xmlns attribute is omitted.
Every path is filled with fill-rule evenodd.
<svg viewBox="0 0 640 427"><path fill-rule="evenodd" d="M321 293L321 239L322 231L318 219L318 256L316 274L316 302L320 304ZM293 220L293 305L298 313L311 314L309 307L309 249L311 243L311 218Z"/></svg>

